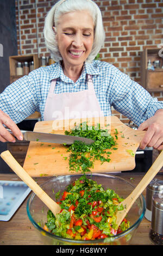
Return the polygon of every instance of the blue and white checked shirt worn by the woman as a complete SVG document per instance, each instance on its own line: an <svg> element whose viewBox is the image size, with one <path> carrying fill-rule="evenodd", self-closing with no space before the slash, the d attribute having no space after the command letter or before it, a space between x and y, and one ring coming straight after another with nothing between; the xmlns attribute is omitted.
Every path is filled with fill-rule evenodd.
<svg viewBox="0 0 163 256"><path fill-rule="evenodd" d="M99 60L85 63L81 76L74 83L64 75L61 64L41 67L10 84L0 94L0 109L15 123L30 114L43 112L51 81L57 78L54 93L72 93L87 89L86 74L92 75L96 96L104 115L111 115L111 106L126 115L136 125L152 117L163 101L153 98L143 87L115 66Z"/></svg>

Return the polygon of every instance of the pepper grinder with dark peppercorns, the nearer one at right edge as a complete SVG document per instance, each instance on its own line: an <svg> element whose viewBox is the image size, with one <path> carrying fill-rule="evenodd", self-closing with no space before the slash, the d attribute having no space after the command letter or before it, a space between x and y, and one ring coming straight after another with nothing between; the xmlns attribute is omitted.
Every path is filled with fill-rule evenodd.
<svg viewBox="0 0 163 256"><path fill-rule="evenodd" d="M152 221L149 237L155 245L163 245L163 191L152 198Z"/></svg>

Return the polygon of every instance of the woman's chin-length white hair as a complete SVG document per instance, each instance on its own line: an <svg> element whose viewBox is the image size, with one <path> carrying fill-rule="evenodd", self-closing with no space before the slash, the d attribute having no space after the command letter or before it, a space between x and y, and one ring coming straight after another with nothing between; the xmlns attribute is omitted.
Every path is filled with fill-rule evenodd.
<svg viewBox="0 0 163 256"><path fill-rule="evenodd" d="M87 62L92 62L92 60L97 56L101 47L104 45L105 32L102 22L101 10L98 8L98 5L91 0L60 0L54 4L51 10L49 10L47 13L45 26L43 29L45 44L48 50L51 52L51 56L55 62L62 60L62 57L58 49L57 40L55 39L53 26L57 28L61 15L70 13L71 11L81 10L89 11L95 26L92 51L87 58Z"/></svg>

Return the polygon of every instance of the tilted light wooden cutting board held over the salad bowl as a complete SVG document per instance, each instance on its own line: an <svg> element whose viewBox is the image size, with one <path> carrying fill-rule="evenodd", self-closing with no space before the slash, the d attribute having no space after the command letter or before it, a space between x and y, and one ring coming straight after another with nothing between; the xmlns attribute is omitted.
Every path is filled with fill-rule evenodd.
<svg viewBox="0 0 163 256"><path fill-rule="evenodd" d="M39 121L35 124L34 131L65 134L65 130L70 130L74 123L83 123L85 119L64 120L61 123L53 121ZM87 120L90 126L97 123L101 124L102 129L108 129L112 136L115 137L117 129L117 150L111 150L110 162L95 161L92 173L117 172L123 170L132 170L135 168L135 156L131 156L130 151L134 154L139 148L141 139L145 131L137 131L124 125L117 117L105 117L102 120ZM110 151L110 150L108 150ZM23 168L30 176L55 176L70 175L67 149L64 145L54 143L30 142ZM67 157L67 160L65 160Z"/></svg>

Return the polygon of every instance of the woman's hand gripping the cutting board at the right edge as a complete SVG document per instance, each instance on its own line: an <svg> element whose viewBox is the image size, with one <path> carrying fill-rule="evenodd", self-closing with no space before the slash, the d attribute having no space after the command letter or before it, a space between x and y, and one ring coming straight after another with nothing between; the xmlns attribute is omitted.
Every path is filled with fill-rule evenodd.
<svg viewBox="0 0 163 256"><path fill-rule="evenodd" d="M153 147L158 150L163 149L163 109L159 109L153 117L144 121L138 130L147 130L140 143L141 149L146 147Z"/></svg>

